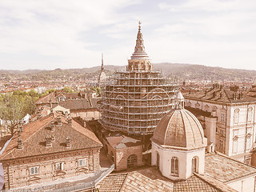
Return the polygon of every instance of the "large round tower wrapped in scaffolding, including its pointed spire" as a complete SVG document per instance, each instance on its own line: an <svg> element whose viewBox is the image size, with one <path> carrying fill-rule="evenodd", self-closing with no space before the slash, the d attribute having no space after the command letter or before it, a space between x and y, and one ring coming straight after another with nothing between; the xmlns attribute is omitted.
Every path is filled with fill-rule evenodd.
<svg viewBox="0 0 256 192"><path fill-rule="evenodd" d="M134 54L128 60L126 71L116 71L102 90L99 122L106 130L138 136L143 140L143 149L147 150L154 128L172 109L177 91L178 85L153 70L139 23Z"/></svg>

